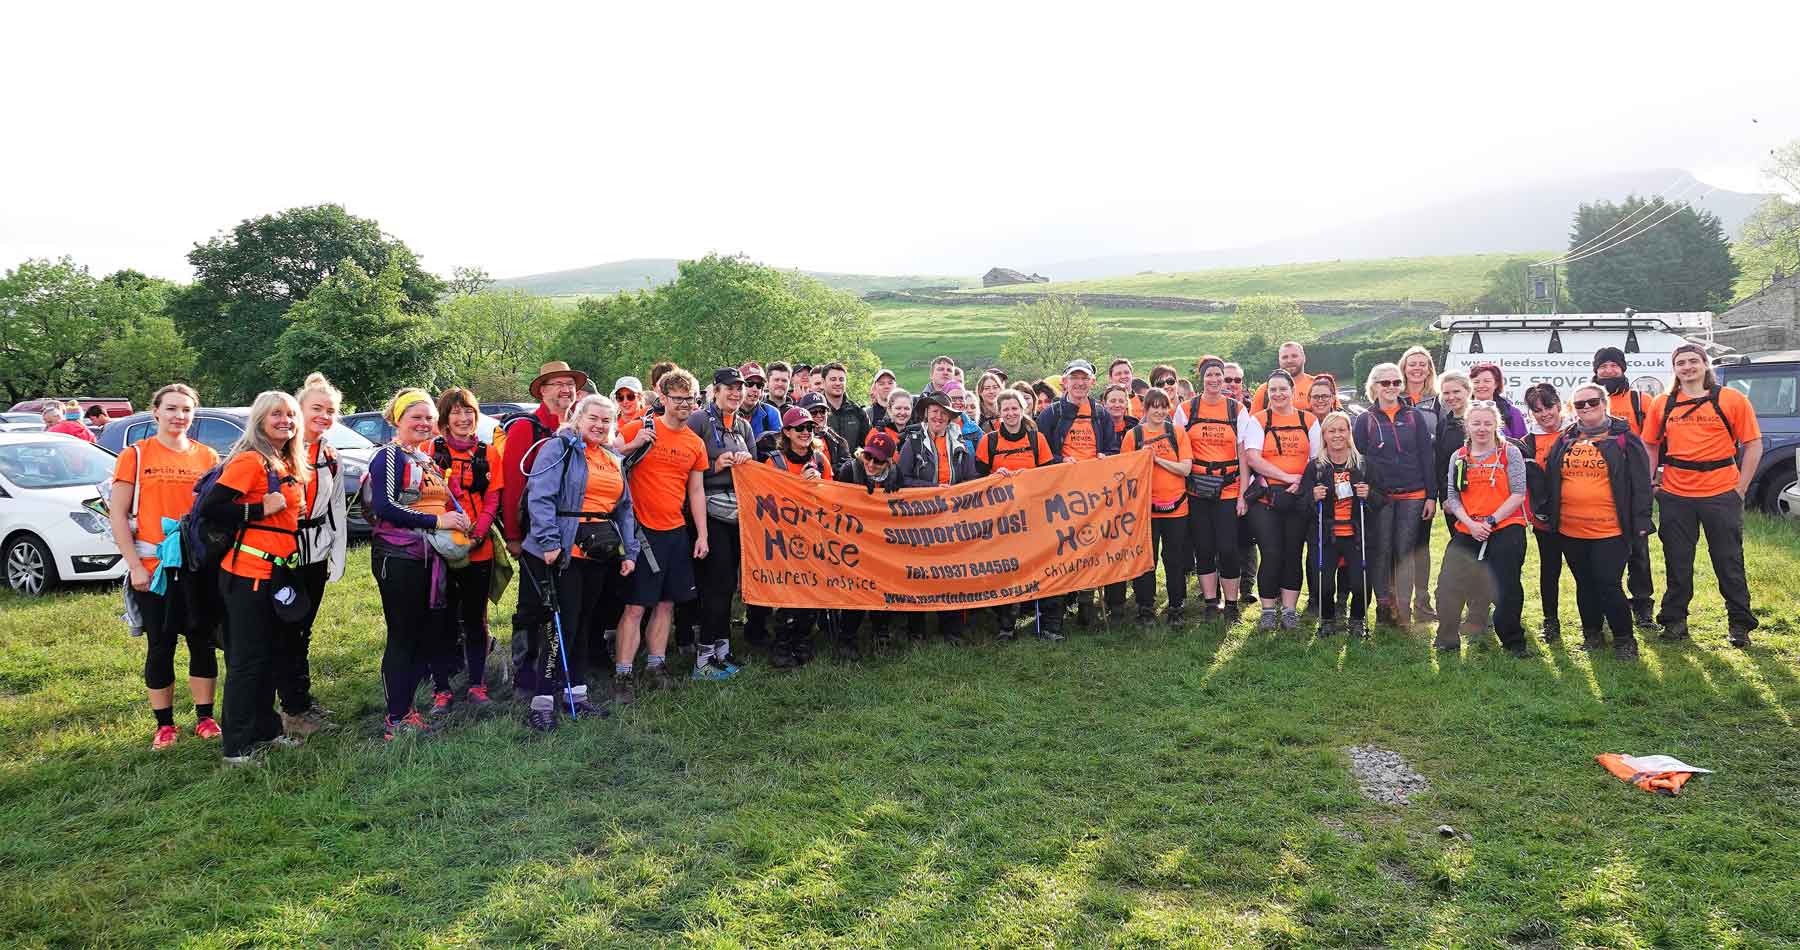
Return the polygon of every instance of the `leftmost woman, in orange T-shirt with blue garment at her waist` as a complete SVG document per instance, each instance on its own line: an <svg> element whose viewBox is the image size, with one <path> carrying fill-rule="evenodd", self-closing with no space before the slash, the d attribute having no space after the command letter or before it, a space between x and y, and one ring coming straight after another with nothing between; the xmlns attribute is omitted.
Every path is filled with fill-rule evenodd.
<svg viewBox="0 0 1800 950"><path fill-rule="evenodd" d="M149 399L157 419L157 434L119 453L113 471L108 518L119 554L131 569L126 597L144 628L144 691L149 695L149 712L157 718L151 748L175 745L175 642L187 637L187 693L194 698L194 736L220 738L220 723L212 718L212 693L218 686L220 664L212 630L218 617L207 608L211 596L196 585L209 574L194 570L162 570L162 592L151 592L157 572L157 545L164 540L162 520L180 520L194 506L198 482L220 457L211 448L187 437L187 428L200 408L200 396L171 383Z"/></svg>

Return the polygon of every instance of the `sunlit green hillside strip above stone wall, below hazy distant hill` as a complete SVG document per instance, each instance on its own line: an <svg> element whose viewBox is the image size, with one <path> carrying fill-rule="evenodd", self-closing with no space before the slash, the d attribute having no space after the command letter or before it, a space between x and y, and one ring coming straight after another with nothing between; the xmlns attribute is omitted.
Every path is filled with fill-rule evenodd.
<svg viewBox="0 0 1800 950"><path fill-rule="evenodd" d="M1454 257L1379 257L1366 261L1314 261L1249 268L1195 270L1188 273L1139 273L1094 281L1013 284L999 293L1138 293L1148 297L1201 297L1237 300L1251 293L1278 293L1296 300L1451 300L1472 297L1487 284L1487 272L1510 257L1550 257L1553 252L1467 254Z"/></svg>

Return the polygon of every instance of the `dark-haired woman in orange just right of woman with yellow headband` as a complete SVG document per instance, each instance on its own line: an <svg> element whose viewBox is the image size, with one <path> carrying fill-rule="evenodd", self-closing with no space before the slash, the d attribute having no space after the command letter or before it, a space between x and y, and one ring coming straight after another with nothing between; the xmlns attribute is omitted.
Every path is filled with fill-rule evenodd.
<svg viewBox="0 0 1800 950"><path fill-rule="evenodd" d="M461 666L468 675L464 698L470 705L488 705L488 587L493 581L493 518L500 513L500 486L506 466L500 452L475 434L481 403L475 394L455 387L437 396L437 425L443 435L432 439L432 462L445 473L450 495L470 516L468 536L475 547L468 565L450 569L445 599L450 605L448 648L432 662L432 716L450 711L450 673ZM612 435L612 426L607 426ZM463 650L455 646L461 641Z"/></svg>

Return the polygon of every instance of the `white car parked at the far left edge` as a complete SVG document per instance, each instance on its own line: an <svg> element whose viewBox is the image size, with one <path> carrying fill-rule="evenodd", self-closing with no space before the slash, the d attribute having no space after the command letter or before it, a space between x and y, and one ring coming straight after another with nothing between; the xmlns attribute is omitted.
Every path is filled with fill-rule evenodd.
<svg viewBox="0 0 1800 950"><path fill-rule="evenodd" d="M99 486L112 452L74 435L0 432L0 565L20 594L61 581L117 581L124 558L112 540Z"/></svg>

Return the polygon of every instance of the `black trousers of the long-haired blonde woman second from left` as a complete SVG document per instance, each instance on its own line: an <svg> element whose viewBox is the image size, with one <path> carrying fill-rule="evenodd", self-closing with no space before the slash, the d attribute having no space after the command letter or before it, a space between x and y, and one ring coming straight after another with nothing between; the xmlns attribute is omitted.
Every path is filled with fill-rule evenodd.
<svg viewBox="0 0 1800 950"><path fill-rule="evenodd" d="M220 570L225 601L225 696L220 709L227 756L248 756L256 743L281 736L275 678L299 633L275 619L268 581Z"/></svg>

